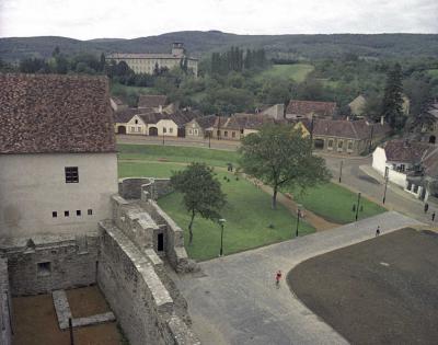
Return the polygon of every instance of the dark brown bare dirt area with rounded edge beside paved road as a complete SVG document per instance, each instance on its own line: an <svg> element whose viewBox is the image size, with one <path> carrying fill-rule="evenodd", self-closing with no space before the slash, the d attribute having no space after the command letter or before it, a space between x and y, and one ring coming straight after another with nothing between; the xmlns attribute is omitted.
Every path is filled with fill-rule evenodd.
<svg viewBox="0 0 438 345"><path fill-rule="evenodd" d="M291 290L353 344L438 343L438 233L403 229L306 261Z"/></svg>

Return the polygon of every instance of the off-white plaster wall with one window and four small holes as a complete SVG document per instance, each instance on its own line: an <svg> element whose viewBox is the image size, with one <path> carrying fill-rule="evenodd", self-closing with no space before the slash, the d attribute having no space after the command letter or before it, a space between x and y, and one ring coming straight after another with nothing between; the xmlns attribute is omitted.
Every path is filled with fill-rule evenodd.
<svg viewBox="0 0 438 345"><path fill-rule="evenodd" d="M78 166L79 183L66 183L66 166ZM0 154L0 237L96 230L115 193L116 153Z"/></svg>

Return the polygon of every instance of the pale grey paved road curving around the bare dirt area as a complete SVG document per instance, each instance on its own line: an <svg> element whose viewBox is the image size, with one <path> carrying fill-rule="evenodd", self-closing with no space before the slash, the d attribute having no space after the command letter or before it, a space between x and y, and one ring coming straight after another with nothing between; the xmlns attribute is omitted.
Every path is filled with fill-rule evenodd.
<svg viewBox="0 0 438 345"><path fill-rule="evenodd" d="M300 262L382 233L418 225L385 212L325 232L201 263L205 276L175 279L187 299L193 326L203 344L347 344L292 296L274 275L286 275Z"/></svg>

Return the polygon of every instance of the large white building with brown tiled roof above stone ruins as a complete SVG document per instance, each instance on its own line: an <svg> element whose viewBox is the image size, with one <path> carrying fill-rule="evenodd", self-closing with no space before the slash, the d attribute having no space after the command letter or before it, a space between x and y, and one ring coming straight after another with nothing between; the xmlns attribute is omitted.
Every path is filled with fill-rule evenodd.
<svg viewBox="0 0 438 345"><path fill-rule="evenodd" d="M0 237L111 218L117 158L104 77L0 74Z"/></svg>

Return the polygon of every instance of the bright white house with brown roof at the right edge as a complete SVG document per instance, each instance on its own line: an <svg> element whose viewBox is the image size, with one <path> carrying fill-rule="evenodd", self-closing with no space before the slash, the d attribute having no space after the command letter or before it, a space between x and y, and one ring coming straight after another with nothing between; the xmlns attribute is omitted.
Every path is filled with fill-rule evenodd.
<svg viewBox="0 0 438 345"><path fill-rule="evenodd" d="M388 181L401 186L417 198L436 198L433 181L438 181L438 148L407 140L391 140L376 148L372 168Z"/></svg>

